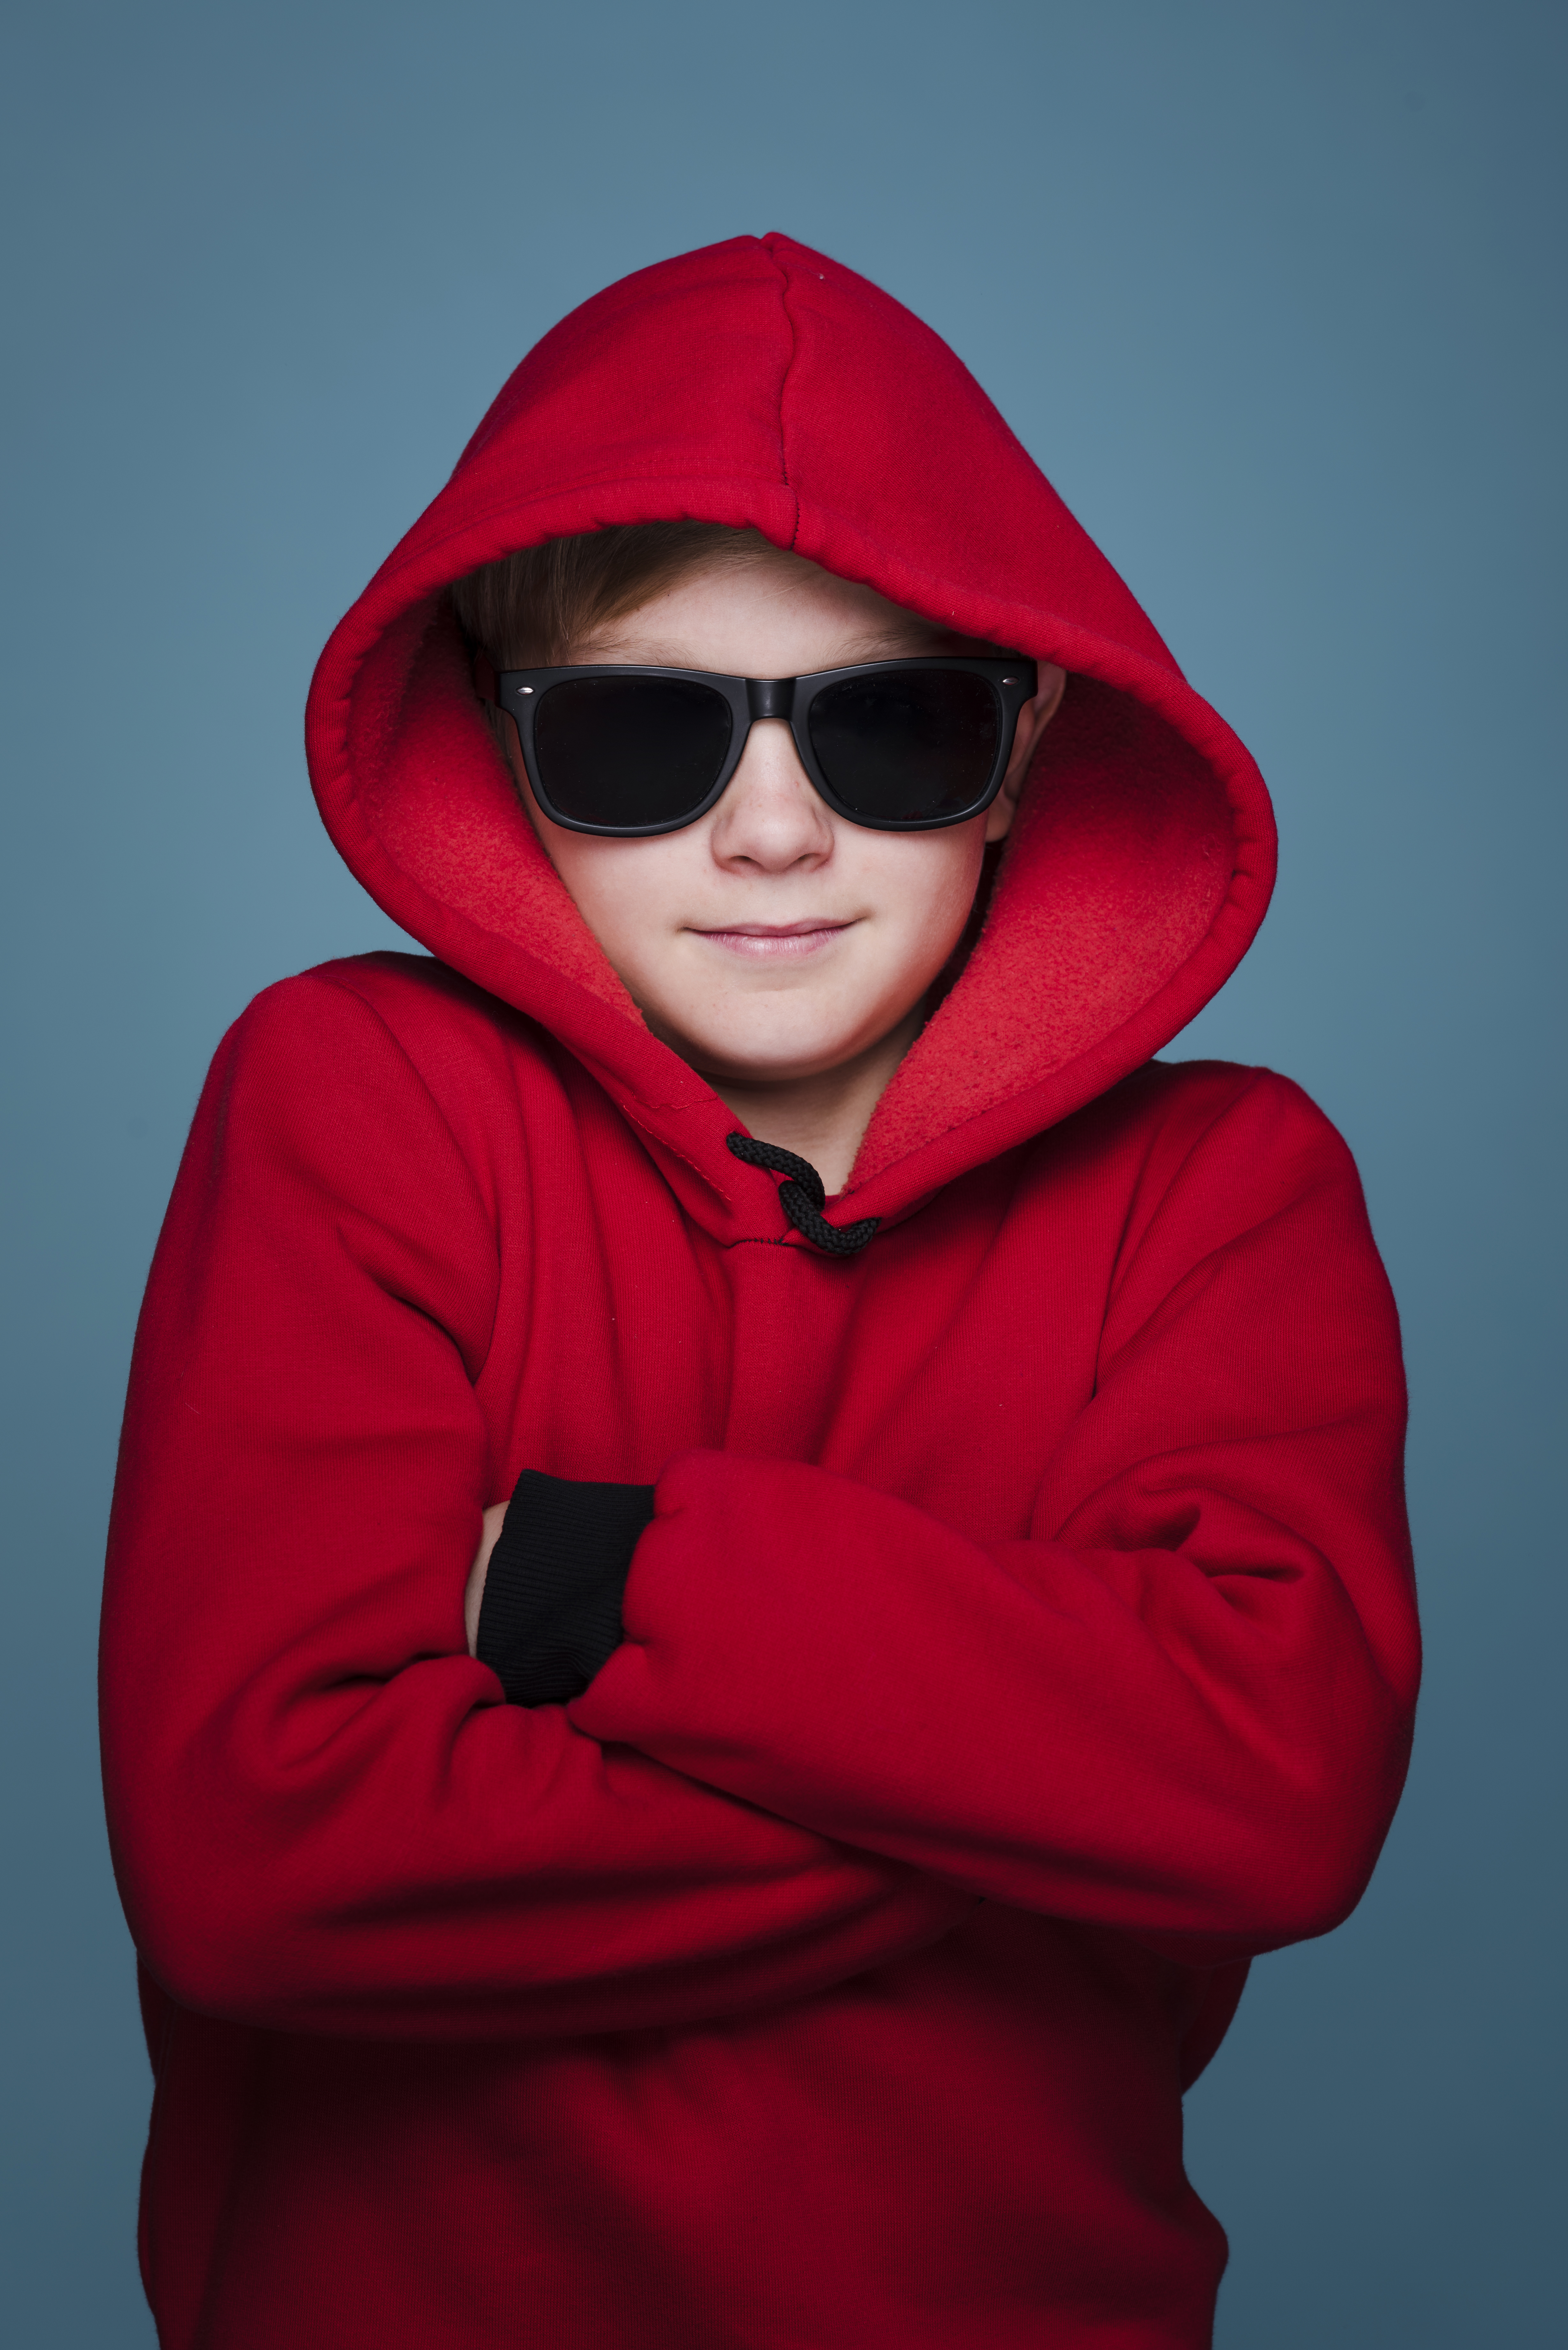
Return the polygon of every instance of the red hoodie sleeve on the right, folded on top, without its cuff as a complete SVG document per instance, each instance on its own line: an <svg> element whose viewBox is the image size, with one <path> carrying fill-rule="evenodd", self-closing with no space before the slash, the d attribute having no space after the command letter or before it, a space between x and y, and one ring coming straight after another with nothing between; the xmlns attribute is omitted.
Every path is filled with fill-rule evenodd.
<svg viewBox="0 0 1568 2350"><path fill-rule="evenodd" d="M1030 1539L684 1455L571 1720L1194 1962L1333 1927L1418 1680L1394 1304L1345 1144L1269 1074L1140 1234Z"/></svg>

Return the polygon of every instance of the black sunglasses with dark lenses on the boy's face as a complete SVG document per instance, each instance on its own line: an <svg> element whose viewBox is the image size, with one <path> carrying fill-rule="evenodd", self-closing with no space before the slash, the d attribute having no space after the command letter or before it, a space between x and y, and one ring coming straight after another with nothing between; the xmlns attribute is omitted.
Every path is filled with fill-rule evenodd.
<svg viewBox="0 0 1568 2350"><path fill-rule="evenodd" d="M487 679L482 679L484 684ZM1032 660L867 660L813 677L719 677L630 663L503 670L501 707L545 815L571 832L679 832L719 801L757 719L783 719L835 815L936 832L990 808Z"/></svg>

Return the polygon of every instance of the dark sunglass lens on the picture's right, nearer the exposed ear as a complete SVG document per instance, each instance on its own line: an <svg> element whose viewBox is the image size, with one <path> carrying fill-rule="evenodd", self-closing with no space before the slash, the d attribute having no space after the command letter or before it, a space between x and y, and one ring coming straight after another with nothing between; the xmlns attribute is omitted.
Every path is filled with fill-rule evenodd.
<svg viewBox="0 0 1568 2350"><path fill-rule="evenodd" d="M1001 705L969 670L884 670L827 686L809 724L816 761L851 815L929 825L985 792Z"/></svg>

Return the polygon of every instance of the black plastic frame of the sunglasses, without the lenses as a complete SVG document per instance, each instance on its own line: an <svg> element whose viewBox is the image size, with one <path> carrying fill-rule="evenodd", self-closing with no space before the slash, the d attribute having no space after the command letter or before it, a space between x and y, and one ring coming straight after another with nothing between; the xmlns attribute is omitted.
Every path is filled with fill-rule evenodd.
<svg viewBox="0 0 1568 2350"><path fill-rule="evenodd" d="M983 677L997 698L999 710L999 738L997 757L992 771L985 780L985 790L976 799L959 808L954 815L931 815L931 818L907 818L907 815L856 815L846 808L842 799L832 792L832 785L823 776L816 752L811 750L811 703L827 686L842 686L851 677L882 677L898 670L961 670L969 677ZM581 677L668 677L689 686L712 686L729 703L731 712L731 738L729 752L724 754L724 766L719 768L717 783L708 790L701 806L691 808L689 815L668 818L661 825L588 825L576 815L562 815L552 806L538 776L538 759L534 757L534 719L538 705L543 703L550 686L567 684ZM860 660L846 670L811 670L804 677L724 677L719 670L668 670L658 665L642 665L630 660L604 660L604 663L576 663L557 670L503 670L496 677L496 700L517 721L517 738L522 743L522 764L529 776L529 787L534 799L550 818L552 825L562 825L567 832L592 832L599 839L614 841L644 841L658 832L684 832L686 825L701 822L710 808L717 808L719 799L729 790L729 783L745 757L745 745L757 719L783 719L795 736L795 750L799 764L806 768L818 797L842 815L849 825L860 825L867 832L945 832L950 825L966 825L971 818L990 808L992 799L1001 790L1001 778L1006 776L1006 764L1013 757L1013 736L1018 733L1018 714L1025 703L1034 700L1039 691L1039 667L1025 656L983 656L971 658L966 653L943 656L933 653L929 658L914 660ZM487 696L489 698L489 696Z"/></svg>

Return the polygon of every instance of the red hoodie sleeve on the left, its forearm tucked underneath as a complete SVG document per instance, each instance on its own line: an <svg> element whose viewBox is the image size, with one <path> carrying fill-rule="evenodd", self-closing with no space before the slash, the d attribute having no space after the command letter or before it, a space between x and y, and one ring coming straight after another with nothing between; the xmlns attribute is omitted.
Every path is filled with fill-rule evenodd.
<svg viewBox="0 0 1568 2350"><path fill-rule="evenodd" d="M524 1711L463 1638L496 1231L376 1013L226 1039L136 1335L103 1598L110 1842L183 2005L494 2037L797 1998L969 1908Z"/></svg>

